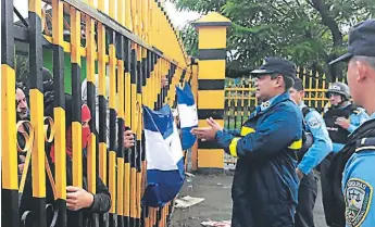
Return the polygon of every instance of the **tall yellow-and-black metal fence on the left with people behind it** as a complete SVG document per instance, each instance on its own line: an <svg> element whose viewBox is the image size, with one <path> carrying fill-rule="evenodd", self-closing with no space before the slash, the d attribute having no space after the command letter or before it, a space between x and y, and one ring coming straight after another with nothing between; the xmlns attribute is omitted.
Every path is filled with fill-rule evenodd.
<svg viewBox="0 0 375 227"><path fill-rule="evenodd" d="M146 161L142 136L141 105L158 110L164 103L175 105L175 86L197 77L190 59L184 52L176 30L161 3L154 0L28 0L28 18L13 23L16 9L13 0L1 0L1 149L2 149L2 226L66 226L66 166L65 166L65 101L71 92L79 106L80 83L87 78L87 102L91 111L91 133L87 151L88 191L96 193L96 175L108 186L112 206L109 215L92 215L91 226L166 226L172 203L160 209L145 207L140 200L146 182ZM27 1L25 1L25 4ZM48 7L42 8L45 4ZM30 121L16 124L15 112L15 52L29 60ZM50 54L52 53L52 54ZM43 116L42 66L53 72L55 93L54 118ZM96 78L99 94L96 97ZM109 97L105 92L109 76ZM161 77L170 86L161 87ZM99 115L96 116L96 98ZM109 100L109 115L105 111ZM83 187L83 152L80 109L73 109L73 186ZM17 130L28 125L23 134L25 148L17 149ZM124 126L136 136L136 146L115 149L123 142ZM116 135L116 129L118 134ZM52 133L50 133L52 131ZM99 149L96 149L96 142ZM50 173L47 144L54 143L55 166ZM26 152L21 181L17 177L18 152ZM28 167L29 165L29 167ZM28 173L29 172L29 173ZM47 172L47 174L46 174ZM36 207L18 212L26 175L33 177L33 198ZM46 204L46 180L53 188L55 201ZM62 202L61 202L62 201ZM82 225L83 226L83 225Z"/></svg>

